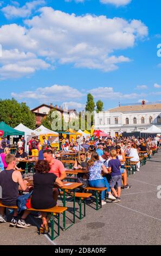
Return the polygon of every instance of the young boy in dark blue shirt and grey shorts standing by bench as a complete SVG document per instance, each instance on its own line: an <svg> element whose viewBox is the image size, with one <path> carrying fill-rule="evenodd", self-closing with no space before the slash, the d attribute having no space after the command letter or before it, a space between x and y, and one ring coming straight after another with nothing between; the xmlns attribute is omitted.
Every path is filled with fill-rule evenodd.
<svg viewBox="0 0 161 256"><path fill-rule="evenodd" d="M121 162L118 160L117 157L117 151L111 150L110 153L112 160L108 162L108 172L111 172L111 180L110 180L110 187L112 192L114 193L114 196L116 200L113 201L113 203L120 202L120 195L121 195ZM118 184L118 192L115 191L114 186Z"/></svg>

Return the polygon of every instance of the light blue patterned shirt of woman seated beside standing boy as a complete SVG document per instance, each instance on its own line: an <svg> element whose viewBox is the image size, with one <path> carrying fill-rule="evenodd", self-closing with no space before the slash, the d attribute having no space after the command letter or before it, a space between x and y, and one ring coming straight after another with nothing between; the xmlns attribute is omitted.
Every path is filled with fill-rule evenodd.
<svg viewBox="0 0 161 256"><path fill-rule="evenodd" d="M100 161L95 161L94 165L89 167L89 180L104 179L101 175L102 165Z"/></svg>

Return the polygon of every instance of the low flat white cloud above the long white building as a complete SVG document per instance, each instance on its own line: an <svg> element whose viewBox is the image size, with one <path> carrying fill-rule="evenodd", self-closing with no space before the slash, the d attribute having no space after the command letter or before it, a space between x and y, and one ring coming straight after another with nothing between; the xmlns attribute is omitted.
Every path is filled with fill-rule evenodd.
<svg viewBox="0 0 161 256"><path fill-rule="evenodd" d="M141 94L131 93L123 94L120 92L114 92L112 87L98 87L88 91L93 95L95 99L137 99Z"/></svg>

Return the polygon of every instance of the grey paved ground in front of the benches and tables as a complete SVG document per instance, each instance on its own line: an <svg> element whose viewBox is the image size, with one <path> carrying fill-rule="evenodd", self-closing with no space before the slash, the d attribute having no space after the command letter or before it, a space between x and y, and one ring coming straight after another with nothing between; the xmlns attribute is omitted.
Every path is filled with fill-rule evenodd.
<svg viewBox="0 0 161 256"><path fill-rule="evenodd" d="M160 245L161 199L157 198L157 187L161 185L161 151L131 175L128 183L132 188L122 190L121 202L107 203L99 211L87 206L86 218L76 219L75 225L61 231L53 242L47 235L37 234L38 222L31 216L28 222L33 227L29 229L0 224L0 245Z"/></svg>

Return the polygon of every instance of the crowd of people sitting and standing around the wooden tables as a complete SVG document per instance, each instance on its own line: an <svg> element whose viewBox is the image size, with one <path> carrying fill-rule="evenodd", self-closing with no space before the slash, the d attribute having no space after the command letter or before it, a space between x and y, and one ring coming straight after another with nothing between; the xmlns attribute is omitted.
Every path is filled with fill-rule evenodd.
<svg viewBox="0 0 161 256"><path fill-rule="evenodd" d="M6 141L6 138L5 138ZM7 206L16 206L16 199L20 191L27 191L27 180L22 179L19 169L24 169L25 162L16 164L17 159L26 160L30 153L33 157L38 157L35 165L33 178L33 193L31 196L31 206L34 209L49 209L56 205L59 196L59 188L63 186L66 179L66 169L59 160L60 152L51 148L46 137L40 143L38 137L33 137L28 142L28 151L24 151L25 141L18 141L18 151L16 155L10 154L10 148L5 147L0 154L0 186L2 187L2 203ZM8 146L7 142L6 145ZM121 188L128 190L131 188L127 184L126 156L130 156L130 161L137 162L137 171L140 170L139 151L152 156L152 149L157 149L161 145L160 137L145 138L97 138L90 140L83 138L82 142L63 141L61 150L74 152L75 169L86 169L88 173L78 174L78 182L81 182L81 191L88 185L91 187L106 187L108 199L113 203L120 202ZM1 142L1 146L3 143ZM101 193L102 205L106 204L105 191ZM88 198L90 200L91 198ZM6 210L0 208L0 222L7 222ZM30 214L24 211L18 219L17 211L14 214L10 225L22 228L29 228L25 219ZM39 214L40 215L40 214ZM47 213L41 214L42 228L48 230L49 216Z"/></svg>

